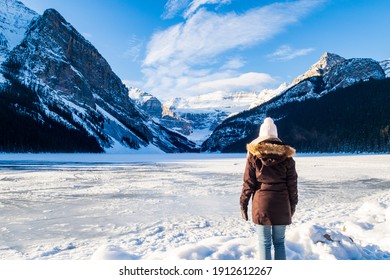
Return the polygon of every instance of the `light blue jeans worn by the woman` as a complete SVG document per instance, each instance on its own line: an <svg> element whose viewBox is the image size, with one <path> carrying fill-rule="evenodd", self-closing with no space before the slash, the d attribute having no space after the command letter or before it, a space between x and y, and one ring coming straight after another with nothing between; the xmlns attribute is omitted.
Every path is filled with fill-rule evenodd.
<svg viewBox="0 0 390 280"><path fill-rule="evenodd" d="M262 226L256 225L259 239L259 259L272 260L271 247L274 245L275 260L286 259L286 248L284 247L285 225Z"/></svg>

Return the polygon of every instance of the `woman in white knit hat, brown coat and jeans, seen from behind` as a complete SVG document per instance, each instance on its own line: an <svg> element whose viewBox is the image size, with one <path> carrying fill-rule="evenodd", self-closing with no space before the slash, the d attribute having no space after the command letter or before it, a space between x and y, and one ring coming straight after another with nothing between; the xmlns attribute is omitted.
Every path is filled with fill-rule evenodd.
<svg viewBox="0 0 390 280"><path fill-rule="evenodd" d="M259 258L286 259L286 226L291 224L298 203L297 172L292 158L295 150L278 138L274 121L266 118L259 137L247 145L247 161L240 197L242 217L248 220L252 197L252 221L259 239Z"/></svg>

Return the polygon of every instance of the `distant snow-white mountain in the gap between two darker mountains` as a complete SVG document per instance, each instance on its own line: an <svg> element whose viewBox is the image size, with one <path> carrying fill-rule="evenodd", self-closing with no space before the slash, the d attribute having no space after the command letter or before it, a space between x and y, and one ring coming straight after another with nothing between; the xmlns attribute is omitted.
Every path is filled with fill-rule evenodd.
<svg viewBox="0 0 390 280"><path fill-rule="evenodd" d="M160 124L201 144L227 117L258 106L287 87L261 92L213 92L170 99L164 104L150 93L130 87L129 96Z"/></svg>

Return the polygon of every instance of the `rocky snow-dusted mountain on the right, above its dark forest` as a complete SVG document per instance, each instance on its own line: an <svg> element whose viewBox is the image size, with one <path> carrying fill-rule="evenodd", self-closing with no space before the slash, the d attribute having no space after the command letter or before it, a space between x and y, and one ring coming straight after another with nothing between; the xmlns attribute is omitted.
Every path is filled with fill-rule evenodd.
<svg viewBox="0 0 390 280"><path fill-rule="evenodd" d="M288 116L288 104L305 104L308 100L320 99L330 92L360 82L383 80L386 78L383 65L388 64L380 64L368 58L343 59L338 55L324 53L308 72L298 77L281 94L260 106L226 119L202 144L202 150L245 151L245 144L255 138L259 125L266 116L273 114L273 118L282 120Z"/></svg>

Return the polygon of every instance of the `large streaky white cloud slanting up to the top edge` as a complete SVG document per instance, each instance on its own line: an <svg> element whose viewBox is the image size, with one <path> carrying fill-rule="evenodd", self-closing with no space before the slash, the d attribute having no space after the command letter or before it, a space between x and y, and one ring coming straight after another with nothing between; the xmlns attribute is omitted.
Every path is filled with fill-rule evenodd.
<svg viewBox="0 0 390 280"><path fill-rule="evenodd" d="M203 61L227 50L248 47L297 22L316 1L276 3L238 15L198 10L187 21L157 32L148 44L145 65L168 60Z"/></svg>

